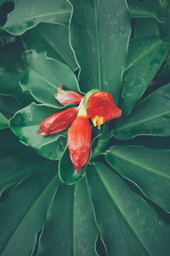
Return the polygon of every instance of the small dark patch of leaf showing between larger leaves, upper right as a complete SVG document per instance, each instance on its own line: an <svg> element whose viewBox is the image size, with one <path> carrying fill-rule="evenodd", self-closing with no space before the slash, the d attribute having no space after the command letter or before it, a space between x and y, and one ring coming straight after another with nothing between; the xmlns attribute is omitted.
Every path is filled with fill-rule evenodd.
<svg viewBox="0 0 170 256"><path fill-rule="evenodd" d="M156 35L159 36L159 28L156 20L152 19L139 19L136 22L134 30L134 38L146 37Z"/></svg>

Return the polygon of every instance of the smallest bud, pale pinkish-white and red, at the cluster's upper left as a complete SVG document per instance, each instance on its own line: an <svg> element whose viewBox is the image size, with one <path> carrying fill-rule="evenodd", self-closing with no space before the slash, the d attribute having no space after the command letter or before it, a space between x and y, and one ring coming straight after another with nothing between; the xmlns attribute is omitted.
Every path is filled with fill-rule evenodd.
<svg viewBox="0 0 170 256"><path fill-rule="evenodd" d="M58 93L54 95L56 100L61 105L69 103L79 104L82 101L83 96L73 90L63 90L61 86L57 87Z"/></svg>

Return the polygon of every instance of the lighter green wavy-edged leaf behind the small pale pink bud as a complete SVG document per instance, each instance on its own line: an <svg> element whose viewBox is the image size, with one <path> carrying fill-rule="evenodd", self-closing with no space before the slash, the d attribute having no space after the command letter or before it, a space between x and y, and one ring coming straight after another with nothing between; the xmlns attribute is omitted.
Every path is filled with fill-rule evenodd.
<svg viewBox="0 0 170 256"><path fill-rule="evenodd" d="M36 51L25 53L26 73L21 81L23 90L29 90L38 101L49 107L61 108L55 100L57 86L68 90L79 90L76 75L60 61L48 58L45 53Z"/></svg>

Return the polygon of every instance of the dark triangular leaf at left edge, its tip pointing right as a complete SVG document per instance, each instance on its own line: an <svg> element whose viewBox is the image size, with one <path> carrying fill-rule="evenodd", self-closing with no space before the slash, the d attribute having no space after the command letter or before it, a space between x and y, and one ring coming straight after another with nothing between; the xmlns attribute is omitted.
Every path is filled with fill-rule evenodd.
<svg viewBox="0 0 170 256"><path fill-rule="evenodd" d="M11 131L0 132L0 193L37 171L45 160L17 141Z"/></svg>

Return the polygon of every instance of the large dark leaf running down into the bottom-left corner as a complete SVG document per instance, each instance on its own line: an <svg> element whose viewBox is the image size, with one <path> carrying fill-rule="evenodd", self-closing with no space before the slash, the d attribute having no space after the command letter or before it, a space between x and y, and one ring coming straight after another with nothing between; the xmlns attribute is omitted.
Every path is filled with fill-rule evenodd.
<svg viewBox="0 0 170 256"><path fill-rule="evenodd" d="M27 162L30 165L30 162ZM0 204L2 256L29 255L42 229L48 205L58 185L54 163L32 166L34 173L10 190Z"/></svg>

